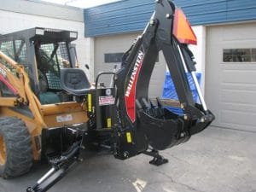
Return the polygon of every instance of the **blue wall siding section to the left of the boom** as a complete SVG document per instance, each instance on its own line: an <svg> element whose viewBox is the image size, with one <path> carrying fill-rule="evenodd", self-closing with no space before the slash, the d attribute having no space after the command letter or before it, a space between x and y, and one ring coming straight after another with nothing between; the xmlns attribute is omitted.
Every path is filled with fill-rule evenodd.
<svg viewBox="0 0 256 192"><path fill-rule="evenodd" d="M84 9L85 36L141 31L153 11L151 0L123 0Z"/></svg>

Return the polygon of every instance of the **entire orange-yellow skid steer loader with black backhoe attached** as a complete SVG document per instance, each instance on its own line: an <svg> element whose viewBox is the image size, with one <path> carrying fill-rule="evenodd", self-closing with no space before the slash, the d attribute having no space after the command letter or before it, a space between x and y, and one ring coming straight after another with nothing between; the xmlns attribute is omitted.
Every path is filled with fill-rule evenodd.
<svg viewBox="0 0 256 192"><path fill-rule="evenodd" d="M90 84L78 68L72 41L77 32L36 27L0 38L0 174L28 172L32 160L46 160L49 172L27 192L44 192L79 161L81 148L109 148L126 160L137 154L166 163L160 150L187 142L207 128L214 115L207 109L195 77L188 44L196 37L181 9L158 0L143 34L122 58L116 72L99 73ZM182 114L173 113L148 85L159 51L177 90ZM193 100L186 72L191 73L200 103ZM111 86L100 83L103 75Z"/></svg>

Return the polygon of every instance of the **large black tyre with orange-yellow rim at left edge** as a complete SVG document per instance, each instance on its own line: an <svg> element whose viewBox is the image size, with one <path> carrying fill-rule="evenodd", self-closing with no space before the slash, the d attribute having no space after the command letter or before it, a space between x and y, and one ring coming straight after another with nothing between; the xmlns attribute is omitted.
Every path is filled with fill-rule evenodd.
<svg viewBox="0 0 256 192"><path fill-rule="evenodd" d="M0 118L0 176L17 177L32 166L32 142L24 122Z"/></svg>

